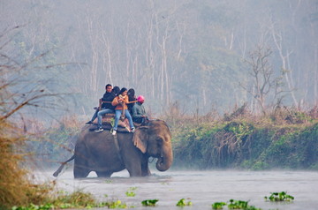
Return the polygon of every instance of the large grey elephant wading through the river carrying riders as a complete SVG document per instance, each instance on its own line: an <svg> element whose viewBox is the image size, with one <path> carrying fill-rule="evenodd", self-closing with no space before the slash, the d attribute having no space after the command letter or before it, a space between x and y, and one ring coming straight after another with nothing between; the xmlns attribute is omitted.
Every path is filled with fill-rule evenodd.
<svg viewBox="0 0 318 210"><path fill-rule="evenodd" d="M150 176L148 159L157 158L156 169L170 169L173 161L171 133L163 120L151 120L136 128L134 133L117 130L95 132L85 126L79 133L72 158L64 161L53 174L58 174L68 161L74 159L75 178L87 177L95 171L98 177L110 177L114 172L127 169L132 176Z"/></svg>

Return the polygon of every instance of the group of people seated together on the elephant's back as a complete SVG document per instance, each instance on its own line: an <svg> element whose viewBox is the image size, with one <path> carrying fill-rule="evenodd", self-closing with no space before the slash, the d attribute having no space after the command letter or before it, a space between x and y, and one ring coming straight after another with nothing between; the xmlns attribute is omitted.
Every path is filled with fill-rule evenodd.
<svg viewBox="0 0 318 210"><path fill-rule="evenodd" d="M135 96L134 89L131 88L119 88L118 86L111 86L110 84L105 86L106 92L103 94L100 100L99 108L96 108L95 114L87 124L93 124L97 118L96 132L103 131L102 129L102 116L105 114L115 114L115 122L112 127L112 135L116 135L117 126L121 117L127 118L131 132L135 131L134 123L144 124L148 121L143 103L145 101L144 96Z"/></svg>

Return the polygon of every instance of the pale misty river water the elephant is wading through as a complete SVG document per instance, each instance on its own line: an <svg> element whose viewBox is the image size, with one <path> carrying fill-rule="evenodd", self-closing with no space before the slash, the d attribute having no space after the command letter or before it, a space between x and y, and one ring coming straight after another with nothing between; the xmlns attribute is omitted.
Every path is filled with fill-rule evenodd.
<svg viewBox="0 0 318 210"><path fill-rule="evenodd" d="M67 169L57 178L54 171L36 172L41 181L56 180L58 189L91 192L101 201L121 200L133 209L178 209L178 200L191 201L193 206L183 210L212 209L214 202L229 199L249 201L261 209L318 209L318 172L308 171L183 171L170 169L159 172L152 169L152 176L129 177L126 170L111 178L98 178L92 172L85 179L74 179ZM135 196L128 197L127 191ZM295 197L292 202L269 202L264 196L270 192L287 191ZM144 199L158 199L155 207L142 206ZM106 208L104 208L106 209ZM224 209L227 209L225 206Z"/></svg>

